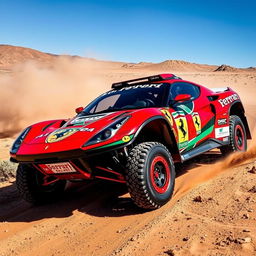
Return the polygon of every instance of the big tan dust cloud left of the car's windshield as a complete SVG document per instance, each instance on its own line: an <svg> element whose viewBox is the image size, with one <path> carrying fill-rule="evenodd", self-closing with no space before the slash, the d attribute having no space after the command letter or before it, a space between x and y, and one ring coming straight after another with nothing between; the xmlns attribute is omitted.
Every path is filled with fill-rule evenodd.
<svg viewBox="0 0 256 256"><path fill-rule="evenodd" d="M59 57L48 65L28 62L1 75L0 138L34 122L72 117L76 107L109 89L107 69L94 60Z"/></svg>

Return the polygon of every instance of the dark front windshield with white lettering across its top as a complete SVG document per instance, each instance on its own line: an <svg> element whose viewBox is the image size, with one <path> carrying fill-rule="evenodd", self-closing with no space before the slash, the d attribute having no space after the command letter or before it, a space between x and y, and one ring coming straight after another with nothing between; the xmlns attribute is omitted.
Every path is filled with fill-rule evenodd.
<svg viewBox="0 0 256 256"><path fill-rule="evenodd" d="M95 114L122 109L162 107L165 102L164 83L142 84L124 87L104 93L91 104L83 113Z"/></svg>

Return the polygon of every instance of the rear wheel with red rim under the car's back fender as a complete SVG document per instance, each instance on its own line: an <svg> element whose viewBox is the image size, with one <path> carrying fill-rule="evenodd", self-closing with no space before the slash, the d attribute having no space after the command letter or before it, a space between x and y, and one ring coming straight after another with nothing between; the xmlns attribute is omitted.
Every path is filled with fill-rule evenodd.
<svg viewBox="0 0 256 256"><path fill-rule="evenodd" d="M231 115L229 119L229 144L220 148L223 155L236 151L246 151L247 139L244 124L239 116Z"/></svg>

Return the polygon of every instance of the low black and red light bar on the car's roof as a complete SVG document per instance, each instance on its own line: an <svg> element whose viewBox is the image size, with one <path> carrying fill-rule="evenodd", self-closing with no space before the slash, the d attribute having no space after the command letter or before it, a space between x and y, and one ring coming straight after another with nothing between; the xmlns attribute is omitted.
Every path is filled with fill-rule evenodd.
<svg viewBox="0 0 256 256"><path fill-rule="evenodd" d="M129 86L137 85L138 83L160 82L160 81L163 81L163 80L171 80L171 79L181 80L180 77L177 77L173 74L161 74L161 75L147 76L147 77L127 80L127 81L123 81L123 82L113 83L112 88L113 89L120 89L120 88L123 88L123 87L129 87Z"/></svg>

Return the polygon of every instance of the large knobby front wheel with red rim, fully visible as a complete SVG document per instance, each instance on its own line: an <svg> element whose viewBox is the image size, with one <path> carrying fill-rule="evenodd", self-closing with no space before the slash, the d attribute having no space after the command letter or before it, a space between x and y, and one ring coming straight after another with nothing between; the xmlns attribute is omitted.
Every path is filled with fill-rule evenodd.
<svg viewBox="0 0 256 256"><path fill-rule="evenodd" d="M168 149L158 142L135 146L128 157L126 183L137 206L156 209L172 197L175 167Z"/></svg>

